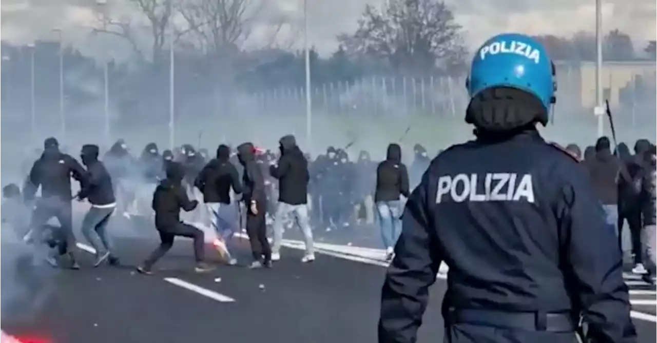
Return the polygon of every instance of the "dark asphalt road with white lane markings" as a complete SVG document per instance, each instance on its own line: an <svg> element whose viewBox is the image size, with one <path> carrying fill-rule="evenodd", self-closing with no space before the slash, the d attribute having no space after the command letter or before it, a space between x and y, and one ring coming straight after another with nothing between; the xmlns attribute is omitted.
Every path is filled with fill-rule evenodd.
<svg viewBox="0 0 657 343"><path fill-rule="evenodd" d="M240 244L246 248L246 243ZM81 252L83 268L58 271L51 296L34 316L5 320L0 327L34 343L376 342L384 264L371 249L348 253L346 247L326 245L321 249L327 254L302 264L302 251L288 248L271 270L219 266L196 274L191 241L181 239L149 276L133 272L133 266L156 241L122 239L116 245L124 267L93 269L91 254ZM246 249L243 256L246 262ZM638 291L641 285L633 287ZM439 279L419 342L442 340L444 291ZM656 317L649 311L657 312L657 304L636 310L645 312L635 313L639 342L655 342Z"/></svg>

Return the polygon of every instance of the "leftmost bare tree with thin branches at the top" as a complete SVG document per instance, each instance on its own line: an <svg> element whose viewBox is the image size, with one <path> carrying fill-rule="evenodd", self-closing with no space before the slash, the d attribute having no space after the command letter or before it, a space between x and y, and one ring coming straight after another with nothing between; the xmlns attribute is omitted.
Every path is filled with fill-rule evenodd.
<svg viewBox="0 0 657 343"><path fill-rule="evenodd" d="M108 33L123 37L133 47L135 52L143 60L152 59L154 64L160 64L165 58L165 44L168 41L169 31L175 30L170 27L171 18L173 18L174 6L173 0L128 0L131 5L136 7L143 16L148 20L148 28L151 35L150 56L145 52L138 43L139 24L134 19L122 18L116 20L106 14L99 14L98 19L101 23L99 28L95 29L96 33ZM174 31L175 39L183 35L183 32ZM149 58L150 57L150 58Z"/></svg>

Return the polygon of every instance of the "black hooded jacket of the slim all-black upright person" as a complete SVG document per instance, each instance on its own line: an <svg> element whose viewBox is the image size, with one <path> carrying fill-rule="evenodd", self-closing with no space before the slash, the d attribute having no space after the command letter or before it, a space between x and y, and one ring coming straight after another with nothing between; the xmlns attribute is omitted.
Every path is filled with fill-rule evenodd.
<svg viewBox="0 0 657 343"><path fill-rule="evenodd" d="M252 143L242 143L237 147L237 157L244 167L242 173L242 201L245 203L251 201L265 203L267 201L265 178L262 175L260 166L256 163L256 148Z"/></svg>

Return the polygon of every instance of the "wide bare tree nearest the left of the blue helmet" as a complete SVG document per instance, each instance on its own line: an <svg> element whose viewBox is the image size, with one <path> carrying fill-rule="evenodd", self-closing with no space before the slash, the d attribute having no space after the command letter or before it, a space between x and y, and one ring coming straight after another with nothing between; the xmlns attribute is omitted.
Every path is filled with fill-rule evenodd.
<svg viewBox="0 0 657 343"><path fill-rule="evenodd" d="M461 30L444 1L390 0L383 12L365 7L355 33L338 40L350 54L384 59L405 73L453 73L466 56Z"/></svg>

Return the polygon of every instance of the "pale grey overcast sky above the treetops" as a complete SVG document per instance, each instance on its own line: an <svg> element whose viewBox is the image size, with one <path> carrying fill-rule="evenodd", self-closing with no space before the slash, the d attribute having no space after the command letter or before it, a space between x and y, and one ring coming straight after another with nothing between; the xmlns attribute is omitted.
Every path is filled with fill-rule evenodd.
<svg viewBox="0 0 657 343"><path fill-rule="evenodd" d="M139 13L131 9L131 0L106 0L114 16ZM162 0L160 0L162 1ZM190 0L193 1L193 0ZM259 0L251 0L259 1ZM338 33L352 31L366 3L381 5L385 0L308 0L309 39L323 53L336 46ZM34 39L55 37L52 29L64 28L65 39L81 42L94 24L95 0L0 0L0 39L13 43L28 43ZM261 17L271 21L269 14L284 14L290 21L303 15L302 0L268 0L269 7ZM457 21L466 30L470 47L486 37L503 31L570 35L578 30L595 30L595 0L447 0ZM657 39L657 1L603 1L604 31L620 28L630 33L637 43ZM296 18L296 19L295 19ZM85 29L85 26L87 27ZM280 39L301 39L301 28L284 30ZM257 39L269 39L267 26L256 28L252 44ZM85 40L87 49L121 49L109 41Z"/></svg>

